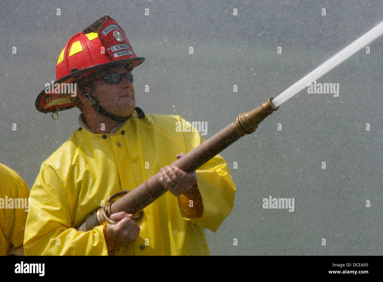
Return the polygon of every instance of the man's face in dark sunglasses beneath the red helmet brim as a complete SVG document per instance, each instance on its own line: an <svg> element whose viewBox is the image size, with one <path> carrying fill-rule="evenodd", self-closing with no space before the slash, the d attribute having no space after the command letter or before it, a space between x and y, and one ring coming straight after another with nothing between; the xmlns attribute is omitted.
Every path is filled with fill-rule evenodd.
<svg viewBox="0 0 383 282"><path fill-rule="evenodd" d="M136 106L133 83L124 76L118 84L108 84L104 80L106 74L125 74L128 70L123 66L108 69L95 76L90 84L85 87L89 94L100 102L107 112L119 117L126 117L133 114Z"/></svg>

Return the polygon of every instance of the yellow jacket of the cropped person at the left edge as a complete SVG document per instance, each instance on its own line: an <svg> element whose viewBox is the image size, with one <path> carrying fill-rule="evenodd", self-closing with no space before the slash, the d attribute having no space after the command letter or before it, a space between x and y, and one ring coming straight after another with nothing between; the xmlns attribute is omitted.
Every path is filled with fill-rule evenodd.
<svg viewBox="0 0 383 282"><path fill-rule="evenodd" d="M23 244L28 197L28 186L21 177L0 163L0 256Z"/></svg>

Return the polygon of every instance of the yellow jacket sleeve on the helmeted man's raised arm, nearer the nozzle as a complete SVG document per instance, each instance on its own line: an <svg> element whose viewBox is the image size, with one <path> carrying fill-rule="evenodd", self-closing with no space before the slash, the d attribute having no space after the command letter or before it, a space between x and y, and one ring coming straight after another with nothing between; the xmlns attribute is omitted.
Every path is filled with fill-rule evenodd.
<svg viewBox="0 0 383 282"><path fill-rule="evenodd" d="M187 152L205 142L197 130L184 132L183 136ZM228 165L220 155L216 155L196 170L196 175L198 189L202 196L203 214L197 219L188 218L185 214L193 214L193 212L187 212L187 210L195 207L190 207L189 200L183 195L178 200L180 211L185 220L215 232L226 216L231 213L236 187Z"/></svg>

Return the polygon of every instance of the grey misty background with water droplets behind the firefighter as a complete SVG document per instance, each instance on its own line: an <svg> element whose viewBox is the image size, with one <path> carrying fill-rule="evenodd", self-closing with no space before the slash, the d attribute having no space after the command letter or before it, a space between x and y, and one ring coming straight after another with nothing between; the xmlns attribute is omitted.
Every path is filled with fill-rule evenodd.
<svg viewBox="0 0 383 282"><path fill-rule="evenodd" d="M146 58L134 69L136 105L206 121L207 139L382 21L383 2L2 1L0 162L29 188L41 163L79 126L78 109L53 121L34 101L55 80L69 38L105 14ZM382 44L380 37L368 45L371 54L361 49L317 79L339 83L339 97L305 88L221 153L237 193L217 233L206 231L212 254L382 254ZM268 196L295 198L295 211L263 209Z"/></svg>

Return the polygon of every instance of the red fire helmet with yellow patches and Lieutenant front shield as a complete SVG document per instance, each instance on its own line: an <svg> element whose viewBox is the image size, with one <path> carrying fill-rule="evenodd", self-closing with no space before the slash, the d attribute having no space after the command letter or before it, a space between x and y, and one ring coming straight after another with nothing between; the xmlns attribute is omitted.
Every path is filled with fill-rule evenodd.
<svg viewBox="0 0 383 282"><path fill-rule="evenodd" d="M94 71L125 66L129 71L145 58L137 58L123 29L105 15L69 39L56 63L56 81L47 83L38 95L39 112L58 112L74 107L70 89L78 79ZM72 88L71 88L72 87Z"/></svg>

